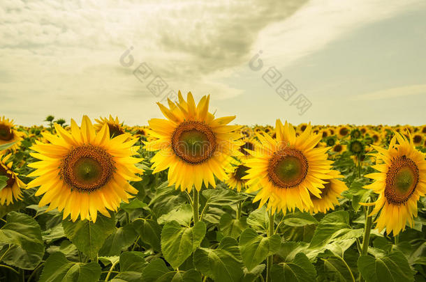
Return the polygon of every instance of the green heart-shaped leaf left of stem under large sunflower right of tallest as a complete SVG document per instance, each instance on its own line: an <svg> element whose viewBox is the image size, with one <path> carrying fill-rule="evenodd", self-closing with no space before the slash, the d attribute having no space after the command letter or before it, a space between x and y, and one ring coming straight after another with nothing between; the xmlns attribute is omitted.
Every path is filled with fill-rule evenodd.
<svg viewBox="0 0 426 282"><path fill-rule="evenodd" d="M241 255L244 265L248 270L254 269L267 256L272 256L278 251L280 244L281 237L278 234L271 237L263 237L258 235L255 230L247 228L240 236Z"/></svg>

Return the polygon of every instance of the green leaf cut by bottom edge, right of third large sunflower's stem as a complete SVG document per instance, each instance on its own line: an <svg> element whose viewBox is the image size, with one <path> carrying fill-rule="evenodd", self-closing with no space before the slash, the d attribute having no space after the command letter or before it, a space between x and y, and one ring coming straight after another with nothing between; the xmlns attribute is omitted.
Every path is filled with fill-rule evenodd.
<svg viewBox="0 0 426 282"><path fill-rule="evenodd" d="M271 277L272 281L315 281L316 270L304 253L298 253L291 263L272 265Z"/></svg>

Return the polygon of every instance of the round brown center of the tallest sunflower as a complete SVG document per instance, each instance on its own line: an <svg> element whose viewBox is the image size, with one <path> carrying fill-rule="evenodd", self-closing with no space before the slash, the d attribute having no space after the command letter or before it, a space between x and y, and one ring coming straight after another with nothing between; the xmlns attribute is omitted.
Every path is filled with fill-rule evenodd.
<svg viewBox="0 0 426 282"><path fill-rule="evenodd" d="M188 164L207 161L216 147L216 136L209 126L200 121L184 121L172 134L173 151Z"/></svg>

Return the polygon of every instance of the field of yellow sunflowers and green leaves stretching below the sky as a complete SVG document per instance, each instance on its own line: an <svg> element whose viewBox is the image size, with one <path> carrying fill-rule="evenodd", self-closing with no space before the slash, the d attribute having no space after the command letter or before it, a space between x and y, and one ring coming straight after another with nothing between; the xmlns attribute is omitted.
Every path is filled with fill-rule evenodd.
<svg viewBox="0 0 426 282"><path fill-rule="evenodd" d="M147 126L0 118L0 281L426 281L426 126L178 96Z"/></svg>

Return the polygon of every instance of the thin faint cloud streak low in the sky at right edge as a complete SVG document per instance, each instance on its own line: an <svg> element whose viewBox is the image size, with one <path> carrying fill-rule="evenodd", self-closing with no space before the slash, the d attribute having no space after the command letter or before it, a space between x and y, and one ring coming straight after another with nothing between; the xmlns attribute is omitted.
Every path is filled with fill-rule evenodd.
<svg viewBox="0 0 426 282"><path fill-rule="evenodd" d="M371 93L365 93L353 97L353 100L373 101L389 100L395 97L426 94L426 84L407 85L402 87L388 88Z"/></svg>

